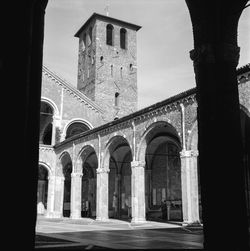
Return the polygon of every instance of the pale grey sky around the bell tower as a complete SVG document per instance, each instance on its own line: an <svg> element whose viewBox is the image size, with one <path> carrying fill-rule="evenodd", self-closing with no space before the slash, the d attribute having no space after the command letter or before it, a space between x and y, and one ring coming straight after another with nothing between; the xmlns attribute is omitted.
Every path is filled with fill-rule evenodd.
<svg viewBox="0 0 250 251"><path fill-rule="evenodd" d="M137 32L138 107L142 109L195 87L190 15L184 0L49 0L45 13L43 64L76 87L78 38L94 13L142 28ZM107 9L107 8L106 8ZM238 26L238 67L250 63L250 7Z"/></svg>

